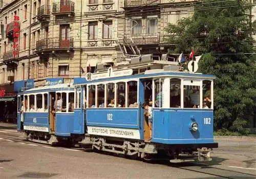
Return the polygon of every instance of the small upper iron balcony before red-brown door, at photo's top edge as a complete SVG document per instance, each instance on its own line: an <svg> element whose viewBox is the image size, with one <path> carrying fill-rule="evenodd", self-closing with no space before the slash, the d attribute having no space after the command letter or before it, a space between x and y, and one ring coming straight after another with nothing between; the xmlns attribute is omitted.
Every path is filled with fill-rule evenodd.
<svg viewBox="0 0 256 179"><path fill-rule="evenodd" d="M65 16L72 17L75 15L75 3L71 1L53 3L52 14L55 15L56 18Z"/></svg>

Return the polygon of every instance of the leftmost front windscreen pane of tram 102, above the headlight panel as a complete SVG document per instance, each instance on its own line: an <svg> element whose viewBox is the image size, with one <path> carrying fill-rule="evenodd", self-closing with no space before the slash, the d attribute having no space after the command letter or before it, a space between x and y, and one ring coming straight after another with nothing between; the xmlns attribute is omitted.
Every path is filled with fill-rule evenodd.
<svg viewBox="0 0 256 179"><path fill-rule="evenodd" d="M170 107L180 107L181 80L170 79Z"/></svg>

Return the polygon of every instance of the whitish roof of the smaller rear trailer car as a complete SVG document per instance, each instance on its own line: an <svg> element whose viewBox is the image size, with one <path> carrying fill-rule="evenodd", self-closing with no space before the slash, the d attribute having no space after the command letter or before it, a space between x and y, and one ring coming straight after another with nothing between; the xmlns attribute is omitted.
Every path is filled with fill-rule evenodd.
<svg viewBox="0 0 256 179"><path fill-rule="evenodd" d="M69 91L71 89L74 89L74 86L71 84L63 83L63 84L56 84L56 85L49 85L49 86L40 86L40 87L34 87L27 89L24 92L21 92L21 94L27 94L27 93L40 93L40 92L56 92L56 91Z"/></svg>

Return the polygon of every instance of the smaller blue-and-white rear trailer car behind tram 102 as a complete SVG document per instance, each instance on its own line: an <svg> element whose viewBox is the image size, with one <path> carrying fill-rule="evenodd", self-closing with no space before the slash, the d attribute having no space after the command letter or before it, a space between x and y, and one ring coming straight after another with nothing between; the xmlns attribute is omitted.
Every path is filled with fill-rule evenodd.
<svg viewBox="0 0 256 179"><path fill-rule="evenodd" d="M77 137L73 131L72 106L74 87L69 84L35 87L21 92L18 94L17 130L23 131L26 139L33 142L51 145L60 141L73 142Z"/></svg>

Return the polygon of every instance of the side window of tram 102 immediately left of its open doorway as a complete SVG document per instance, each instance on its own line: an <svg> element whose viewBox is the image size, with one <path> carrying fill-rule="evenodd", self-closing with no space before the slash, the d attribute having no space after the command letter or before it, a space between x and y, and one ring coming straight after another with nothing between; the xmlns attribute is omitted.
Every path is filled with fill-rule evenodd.
<svg viewBox="0 0 256 179"><path fill-rule="evenodd" d="M129 107L138 107L138 82L137 81L129 81L127 83L127 97L128 97L128 105Z"/></svg>

